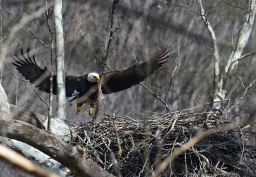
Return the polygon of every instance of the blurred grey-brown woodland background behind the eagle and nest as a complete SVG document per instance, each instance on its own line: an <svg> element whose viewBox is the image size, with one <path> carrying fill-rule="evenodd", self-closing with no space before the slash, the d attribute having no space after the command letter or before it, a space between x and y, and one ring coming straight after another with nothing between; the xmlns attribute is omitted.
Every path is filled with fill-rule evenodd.
<svg viewBox="0 0 256 177"><path fill-rule="evenodd" d="M207 19L216 33L220 65L223 69L235 47L246 2L203 1ZM44 1L2 0L1 3L2 42L13 25L17 24L15 18L19 20L22 15L33 13L44 6ZM63 1L66 74L80 75L92 71L100 73L100 60L106 55L111 6L112 1ZM124 0L116 5L114 27L118 27L118 31L111 45L108 65L112 69L122 69L145 61L161 46L167 46L171 52L178 52L179 55L171 59L173 61L166 63L143 81L157 96L166 101L170 111L212 101L212 39L200 15L195 12L199 13L196 1ZM50 67L50 37L45 15L35 18L26 24L26 29L15 36L8 50L6 66L10 67L15 76L21 77L11 64L12 56L19 53L21 47L30 47L36 55L36 62L41 67ZM254 25L244 53L255 52L255 44ZM245 88L255 80L255 56L246 57L236 67L227 94L230 105L236 104L236 99L243 96ZM29 83L15 78L6 67L1 77L10 103L47 115L47 107ZM48 100L47 94L37 91L45 101ZM255 92L256 87L253 85L243 100L239 100L236 110L230 114L234 117L237 114L246 116L253 111L256 103ZM156 112L166 112L164 104L141 85L105 97L100 103L101 114L115 113L122 117L143 119ZM87 109L83 107L82 110L81 115L76 115L76 106L67 103L67 119L76 122L90 119ZM255 137L252 137L252 143L254 140Z"/></svg>

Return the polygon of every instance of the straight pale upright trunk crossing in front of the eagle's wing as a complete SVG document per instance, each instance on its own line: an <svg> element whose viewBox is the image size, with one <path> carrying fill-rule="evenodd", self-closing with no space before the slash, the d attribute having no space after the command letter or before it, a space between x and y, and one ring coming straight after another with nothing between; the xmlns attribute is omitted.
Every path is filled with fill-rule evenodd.
<svg viewBox="0 0 256 177"><path fill-rule="evenodd" d="M62 20L62 1L56 0L54 5L55 35L56 35L56 76L57 76L57 118L66 117L65 64L64 64L64 34Z"/></svg>

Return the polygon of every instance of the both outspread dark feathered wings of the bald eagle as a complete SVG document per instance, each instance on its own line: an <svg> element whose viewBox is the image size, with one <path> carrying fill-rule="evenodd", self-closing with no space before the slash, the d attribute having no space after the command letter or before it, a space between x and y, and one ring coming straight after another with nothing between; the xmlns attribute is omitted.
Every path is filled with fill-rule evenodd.
<svg viewBox="0 0 256 177"><path fill-rule="evenodd" d="M29 56L29 49L27 50L27 57L24 55L22 49L20 53L23 59L20 59L19 56L15 54L17 59L14 59L13 65L17 67L17 70L26 80L34 83L35 87L38 87L40 90L49 93L50 71L46 67L44 69L39 67L36 64L35 56L31 59ZM135 64L134 66L124 70L111 71L104 74L104 76L101 76L104 81L104 83L102 83L102 93L111 94L140 83L140 81L145 80L145 78L167 62L168 57L170 57L170 55L168 55L168 50L166 50L166 48L162 48L147 62ZM83 76L66 76L66 96L72 96L75 90L79 93L86 92L86 90L88 90L86 87L86 78L87 74ZM56 75L53 76L52 84L52 92L53 94L56 94Z"/></svg>

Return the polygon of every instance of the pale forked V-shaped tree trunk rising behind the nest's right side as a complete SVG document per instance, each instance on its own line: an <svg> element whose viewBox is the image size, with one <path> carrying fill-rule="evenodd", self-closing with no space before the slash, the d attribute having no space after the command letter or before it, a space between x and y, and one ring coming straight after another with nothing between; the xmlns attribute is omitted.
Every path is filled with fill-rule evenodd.
<svg viewBox="0 0 256 177"><path fill-rule="evenodd" d="M200 16L207 27L207 30L210 33L212 43L214 46L214 91L213 91L213 102L223 101L227 96L227 89L230 85L230 79L233 76L234 69L236 68L239 60L244 59L248 55L243 54L244 47L248 43L248 39L250 38L250 34L252 32L252 27L255 19L256 12L256 0L249 0L247 2L247 7L244 11L243 22L241 24L241 28L239 30L239 36L237 38L236 47L232 51L227 65L225 66L225 73L221 74L220 72L220 57L218 55L218 45L216 42L216 36L214 30L211 27L211 24L207 20L204 12L204 7L202 5L202 0L197 0L198 8L200 10ZM241 57L242 56L242 57Z"/></svg>

